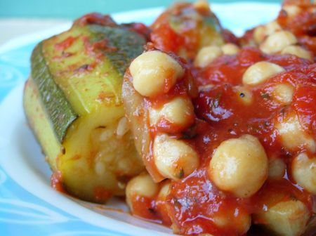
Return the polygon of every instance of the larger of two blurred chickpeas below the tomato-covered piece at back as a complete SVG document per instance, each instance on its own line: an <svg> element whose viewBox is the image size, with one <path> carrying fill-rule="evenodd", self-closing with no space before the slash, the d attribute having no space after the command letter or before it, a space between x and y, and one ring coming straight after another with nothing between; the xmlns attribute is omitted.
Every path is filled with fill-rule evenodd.
<svg viewBox="0 0 316 236"><path fill-rule="evenodd" d="M197 53L193 65L195 65L195 67L206 67L220 55L223 55L223 51L220 47L204 46Z"/></svg>

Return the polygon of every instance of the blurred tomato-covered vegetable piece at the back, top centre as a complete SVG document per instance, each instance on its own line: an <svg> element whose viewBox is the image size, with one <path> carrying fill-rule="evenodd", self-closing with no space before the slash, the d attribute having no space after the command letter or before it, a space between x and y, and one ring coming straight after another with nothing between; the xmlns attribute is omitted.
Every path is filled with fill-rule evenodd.
<svg viewBox="0 0 316 236"><path fill-rule="evenodd" d="M223 40L218 19L209 8L195 8L192 4L180 3L160 15L151 26L150 39L162 51L176 53L186 59L195 57L201 48L202 37L213 34L213 38ZM234 41L235 37L225 31L225 39Z"/></svg>

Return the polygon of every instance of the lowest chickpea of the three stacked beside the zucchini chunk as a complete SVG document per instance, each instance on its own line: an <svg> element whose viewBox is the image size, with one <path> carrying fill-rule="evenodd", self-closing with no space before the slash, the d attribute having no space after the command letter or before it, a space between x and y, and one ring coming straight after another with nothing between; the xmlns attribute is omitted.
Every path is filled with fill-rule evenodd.
<svg viewBox="0 0 316 236"><path fill-rule="evenodd" d="M154 164L166 178L180 180L199 166L199 155L182 140L166 134L154 138Z"/></svg>

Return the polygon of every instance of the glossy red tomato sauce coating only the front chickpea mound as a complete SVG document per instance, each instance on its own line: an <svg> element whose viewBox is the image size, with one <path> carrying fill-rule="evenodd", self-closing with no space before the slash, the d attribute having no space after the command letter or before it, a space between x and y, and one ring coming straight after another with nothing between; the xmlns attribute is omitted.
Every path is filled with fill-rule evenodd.
<svg viewBox="0 0 316 236"><path fill-rule="evenodd" d="M241 93L236 86L242 85L242 74L247 67L263 60L281 65L286 71L263 84L248 88L252 101L250 104L244 103L247 94ZM190 143L199 153L199 169L181 181L171 181L171 190L163 211L157 207L154 199L147 204L147 210L144 209L145 202L141 199L135 205L134 214L162 221L159 216L166 216L167 211L170 217L167 222L171 221L176 232L185 235L205 232L240 235L244 227L242 224L249 221L247 217L250 214L266 210L277 202L298 199L311 210L314 204L312 195L296 185L289 174L291 160L305 150L301 147L290 151L283 147L275 124L280 116L294 112L305 130L315 137L315 65L294 55L266 55L257 48L246 47L237 55L223 55L204 69L192 68L192 73L195 83L199 85L197 96L189 96L195 107L194 124L185 132L177 133L178 129L172 130L168 124L164 126L161 123L150 132L154 136L157 132L169 131L173 136ZM272 87L284 82L295 88L291 105L282 105L272 98ZM178 82L163 96L146 100L151 107L159 107L175 96L188 96L185 82ZM209 179L206 169L213 151L221 142L243 134L256 136L267 156L282 159L287 164L287 171L281 179L268 179L255 195L238 198L218 190ZM137 202L137 199L134 200ZM148 210L149 206L154 211ZM218 226L221 221L225 226Z"/></svg>

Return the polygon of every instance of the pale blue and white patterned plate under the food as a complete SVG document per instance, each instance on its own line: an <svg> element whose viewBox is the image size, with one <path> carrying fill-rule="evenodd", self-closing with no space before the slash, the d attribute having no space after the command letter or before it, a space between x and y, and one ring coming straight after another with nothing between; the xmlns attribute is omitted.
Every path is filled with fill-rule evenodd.
<svg viewBox="0 0 316 236"><path fill-rule="evenodd" d="M244 29L275 18L279 6L213 4L212 9L224 27L240 35ZM161 11L119 13L114 19L150 24ZM50 187L51 171L25 120L22 89L34 45L68 27L70 24L20 37L0 48L1 235L166 235L171 232L168 228L124 212L123 202L113 199L107 206L88 204Z"/></svg>

